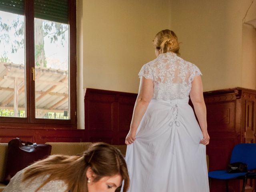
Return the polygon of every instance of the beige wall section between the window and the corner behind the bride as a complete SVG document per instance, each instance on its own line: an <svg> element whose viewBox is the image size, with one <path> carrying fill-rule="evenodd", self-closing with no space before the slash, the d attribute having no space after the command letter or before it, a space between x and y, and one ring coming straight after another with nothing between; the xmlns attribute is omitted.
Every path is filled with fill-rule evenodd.
<svg viewBox="0 0 256 192"><path fill-rule="evenodd" d="M152 39L169 26L169 0L83 0L84 88L138 92Z"/></svg>

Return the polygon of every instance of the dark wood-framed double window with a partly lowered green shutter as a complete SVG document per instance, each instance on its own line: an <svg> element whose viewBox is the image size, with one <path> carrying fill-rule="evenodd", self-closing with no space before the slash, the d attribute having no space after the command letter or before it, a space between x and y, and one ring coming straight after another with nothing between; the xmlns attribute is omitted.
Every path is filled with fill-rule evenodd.
<svg viewBox="0 0 256 192"><path fill-rule="evenodd" d="M76 124L76 0L0 0L0 122Z"/></svg>

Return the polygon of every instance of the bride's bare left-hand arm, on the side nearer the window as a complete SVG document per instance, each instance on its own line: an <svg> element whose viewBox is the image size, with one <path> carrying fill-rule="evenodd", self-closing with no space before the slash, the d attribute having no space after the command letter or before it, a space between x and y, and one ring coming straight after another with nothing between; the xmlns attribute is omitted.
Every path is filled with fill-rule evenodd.
<svg viewBox="0 0 256 192"><path fill-rule="evenodd" d="M132 122L130 125L130 131L126 136L125 143L127 145L132 144L135 141L135 134L140 124L142 117L144 116L148 104L153 96L153 81L151 79L146 79L142 76L140 78L139 93L134 105L134 110L132 114Z"/></svg>

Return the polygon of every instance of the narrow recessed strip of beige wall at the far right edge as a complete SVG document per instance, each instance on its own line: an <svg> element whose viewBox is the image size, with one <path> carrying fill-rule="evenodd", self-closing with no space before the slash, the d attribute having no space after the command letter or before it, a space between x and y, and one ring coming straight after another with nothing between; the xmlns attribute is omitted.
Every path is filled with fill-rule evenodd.
<svg viewBox="0 0 256 192"><path fill-rule="evenodd" d="M256 29L243 25L242 87L256 89Z"/></svg>

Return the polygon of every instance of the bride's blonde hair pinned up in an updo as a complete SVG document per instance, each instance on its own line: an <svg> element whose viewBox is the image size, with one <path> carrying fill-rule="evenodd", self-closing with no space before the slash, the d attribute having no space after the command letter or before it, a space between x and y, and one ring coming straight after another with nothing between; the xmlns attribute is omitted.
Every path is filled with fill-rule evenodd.
<svg viewBox="0 0 256 192"><path fill-rule="evenodd" d="M160 54L174 52L180 55L180 45L176 34L168 29L158 32L153 40L153 45L160 51Z"/></svg>

